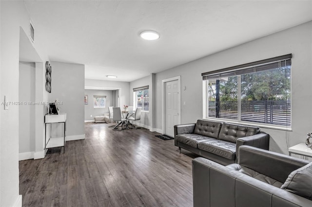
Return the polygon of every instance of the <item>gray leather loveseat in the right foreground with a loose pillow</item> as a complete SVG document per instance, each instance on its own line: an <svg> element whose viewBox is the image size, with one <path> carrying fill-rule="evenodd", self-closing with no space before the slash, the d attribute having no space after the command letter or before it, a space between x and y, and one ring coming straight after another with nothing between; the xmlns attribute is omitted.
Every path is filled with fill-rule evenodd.
<svg viewBox="0 0 312 207"><path fill-rule="evenodd" d="M197 157L194 207L312 207L312 163L251 146L239 147L238 163Z"/></svg>

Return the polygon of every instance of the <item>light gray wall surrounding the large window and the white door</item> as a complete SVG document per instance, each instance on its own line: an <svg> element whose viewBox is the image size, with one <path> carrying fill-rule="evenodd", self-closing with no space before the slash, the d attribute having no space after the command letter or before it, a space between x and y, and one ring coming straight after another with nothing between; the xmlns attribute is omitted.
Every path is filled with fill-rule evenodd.
<svg viewBox="0 0 312 207"><path fill-rule="evenodd" d="M270 134L270 150L288 154L304 142L312 126L312 21L190 63L156 73L156 128L162 128L161 81L181 75L181 123L202 118L201 73L292 53L292 131L262 128ZM287 139L289 141L287 141Z"/></svg>

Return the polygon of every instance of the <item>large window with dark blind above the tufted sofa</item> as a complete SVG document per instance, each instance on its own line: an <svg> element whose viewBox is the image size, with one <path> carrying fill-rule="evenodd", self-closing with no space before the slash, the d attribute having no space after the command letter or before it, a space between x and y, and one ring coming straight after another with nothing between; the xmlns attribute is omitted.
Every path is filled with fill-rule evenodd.
<svg viewBox="0 0 312 207"><path fill-rule="evenodd" d="M204 116L291 126L291 56L203 73Z"/></svg>

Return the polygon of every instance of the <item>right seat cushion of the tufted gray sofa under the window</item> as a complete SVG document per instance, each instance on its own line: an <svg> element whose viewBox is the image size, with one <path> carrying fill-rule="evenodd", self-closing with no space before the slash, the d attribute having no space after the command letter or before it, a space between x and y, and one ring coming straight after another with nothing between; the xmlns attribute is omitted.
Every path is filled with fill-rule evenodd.
<svg viewBox="0 0 312 207"><path fill-rule="evenodd" d="M235 159L236 144L229 141L219 139L205 140L198 143L198 149L220 155L230 160Z"/></svg>

